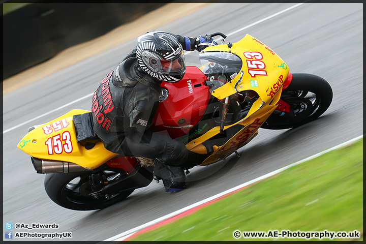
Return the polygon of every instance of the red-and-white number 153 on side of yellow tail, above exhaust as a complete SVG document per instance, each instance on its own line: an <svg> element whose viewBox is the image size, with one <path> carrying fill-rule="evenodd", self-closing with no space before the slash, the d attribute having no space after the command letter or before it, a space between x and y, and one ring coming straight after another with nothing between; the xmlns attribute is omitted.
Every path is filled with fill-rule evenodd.
<svg viewBox="0 0 366 244"><path fill-rule="evenodd" d="M62 154L63 151L65 153L70 154L72 152L72 143L71 143L71 135L69 131L65 131L62 135L58 134L52 137L49 137L45 144L47 145L48 154Z"/></svg>

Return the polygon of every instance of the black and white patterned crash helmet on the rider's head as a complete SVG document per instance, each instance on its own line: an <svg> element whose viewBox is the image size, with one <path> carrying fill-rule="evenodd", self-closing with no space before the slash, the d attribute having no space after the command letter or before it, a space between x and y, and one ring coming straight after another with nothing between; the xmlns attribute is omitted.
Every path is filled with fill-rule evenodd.
<svg viewBox="0 0 366 244"><path fill-rule="evenodd" d="M136 57L141 69L160 81L177 82L186 72L183 48L175 35L167 32L138 37Z"/></svg>

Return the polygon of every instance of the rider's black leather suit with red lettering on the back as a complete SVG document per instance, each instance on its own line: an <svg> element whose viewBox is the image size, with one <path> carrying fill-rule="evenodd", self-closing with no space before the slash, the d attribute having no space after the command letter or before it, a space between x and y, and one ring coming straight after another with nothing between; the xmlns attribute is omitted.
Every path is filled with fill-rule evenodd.
<svg viewBox="0 0 366 244"><path fill-rule="evenodd" d="M187 37L176 36L185 50L192 50ZM103 79L93 95L92 113L94 131L108 150L158 158L170 166L185 162L183 143L149 130L159 106L160 88L161 81L140 68L135 49Z"/></svg>

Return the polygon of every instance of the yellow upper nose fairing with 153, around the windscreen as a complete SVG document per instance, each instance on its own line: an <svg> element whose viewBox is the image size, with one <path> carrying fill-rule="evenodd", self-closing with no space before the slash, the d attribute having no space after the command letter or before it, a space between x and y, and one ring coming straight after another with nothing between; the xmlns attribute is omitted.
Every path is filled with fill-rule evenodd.
<svg viewBox="0 0 366 244"><path fill-rule="evenodd" d="M236 75L230 82L214 90L212 96L224 99L233 95L236 93L236 85L238 92L254 90L265 103L270 102L272 100L271 88L272 91L276 90L277 92L280 88L276 84L278 79L281 78L280 86L282 87L287 78L289 69L286 63L269 47L250 35L246 35L243 39L231 45L231 48L225 44L210 46L203 50L203 52L224 51L235 53L242 60L241 71L244 72L242 78L240 74ZM262 63L264 63L264 67ZM240 78L241 81L238 82ZM273 88L273 86L275 87Z"/></svg>

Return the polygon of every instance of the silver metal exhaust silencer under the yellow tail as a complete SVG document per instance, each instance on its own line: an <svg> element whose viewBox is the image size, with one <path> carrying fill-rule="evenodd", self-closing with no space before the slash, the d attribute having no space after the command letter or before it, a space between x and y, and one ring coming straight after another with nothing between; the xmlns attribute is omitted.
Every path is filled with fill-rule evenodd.
<svg viewBox="0 0 366 244"><path fill-rule="evenodd" d="M39 174L72 173L72 172L88 171L87 169L84 169L80 165L70 162L42 160L33 157L31 157L31 159L34 168Z"/></svg>

